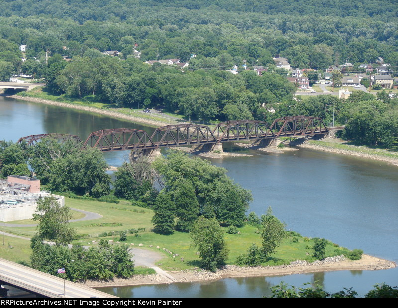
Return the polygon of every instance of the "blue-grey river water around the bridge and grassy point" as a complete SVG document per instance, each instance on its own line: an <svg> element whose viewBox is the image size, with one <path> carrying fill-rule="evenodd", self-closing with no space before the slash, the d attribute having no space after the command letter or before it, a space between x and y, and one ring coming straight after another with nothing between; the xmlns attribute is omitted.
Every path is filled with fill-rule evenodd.
<svg viewBox="0 0 398 308"><path fill-rule="evenodd" d="M153 128L79 110L0 97L0 140L43 133L68 133L86 139L109 128ZM163 150L162 150L163 151ZM224 151L250 157L210 159L250 189L250 211L268 206L288 229L308 237L324 237L349 249L398 262L398 167L385 162L300 149L283 154L242 150L224 144ZM105 153L110 165L121 165L126 152ZM274 277L230 278L203 283L175 283L101 288L119 297L262 297L281 280L295 286L320 281L336 292L353 287L361 296L376 283L398 285L398 269L335 271Z"/></svg>

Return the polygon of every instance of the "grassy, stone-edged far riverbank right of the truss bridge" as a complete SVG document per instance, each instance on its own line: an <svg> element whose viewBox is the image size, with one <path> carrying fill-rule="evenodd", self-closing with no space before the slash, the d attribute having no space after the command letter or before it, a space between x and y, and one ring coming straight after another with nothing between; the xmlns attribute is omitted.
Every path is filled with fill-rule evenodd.
<svg viewBox="0 0 398 308"><path fill-rule="evenodd" d="M299 148L313 149L337 154L357 156L367 159L374 159L398 166L398 153L384 149L370 149L364 146L348 145L342 140L325 138L322 141L308 140L298 145Z"/></svg>

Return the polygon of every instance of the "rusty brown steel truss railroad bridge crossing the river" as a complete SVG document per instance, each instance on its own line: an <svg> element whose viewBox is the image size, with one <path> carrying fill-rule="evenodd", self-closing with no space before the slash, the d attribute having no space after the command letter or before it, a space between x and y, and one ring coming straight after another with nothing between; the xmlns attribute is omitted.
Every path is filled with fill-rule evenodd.
<svg viewBox="0 0 398 308"><path fill-rule="evenodd" d="M178 124L158 127L149 137L146 131L116 128L93 132L82 147L94 147L100 151L123 151L139 149L158 149L160 147L188 146L222 143L238 140L275 139L278 137L306 137L328 134L329 129L321 118L307 116L283 117L267 122L255 120L226 121L217 124L214 130L205 125ZM33 145L45 137L53 137L65 142L77 136L66 134L41 134L22 137L27 145Z"/></svg>

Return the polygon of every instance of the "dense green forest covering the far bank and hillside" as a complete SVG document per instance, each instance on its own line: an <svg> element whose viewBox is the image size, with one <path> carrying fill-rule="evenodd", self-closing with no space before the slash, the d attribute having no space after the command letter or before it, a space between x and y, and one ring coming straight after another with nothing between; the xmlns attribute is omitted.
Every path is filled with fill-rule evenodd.
<svg viewBox="0 0 398 308"><path fill-rule="evenodd" d="M383 57L396 75L397 13L393 1L379 0L5 0L0 11L0 79L35 74L54 94L89 96L130 108L164 107L200 121L271 121L303 114L330 123L334 109L338 123L356 123L347 138L391 145L398 135L395 126L377 129L372 115L395 121L397 99L385 94L362 97L361 103L372 102L365 110L365 125L354 119L358 108L348 105L352 108L347 111L347 104L336 98L292 100L295 87L272 58L280 55L293 68L324 74L335 63L351 62L359 70L360 63ZM27 45L25 62L21 44ZM141 52L139 59L133 56L135 49ZM104 56L105 50L121 54ZM188 68L144 63L172 58L189 61ZM248 69L260 65L268 71L258 76L246 71L244 63ZM226 71L234 65L239 75ZM267 111L271 107L275 113ZM388 122L379 120L378 127L386 127ZM367 137L358 137L360 133Z"/></svg>

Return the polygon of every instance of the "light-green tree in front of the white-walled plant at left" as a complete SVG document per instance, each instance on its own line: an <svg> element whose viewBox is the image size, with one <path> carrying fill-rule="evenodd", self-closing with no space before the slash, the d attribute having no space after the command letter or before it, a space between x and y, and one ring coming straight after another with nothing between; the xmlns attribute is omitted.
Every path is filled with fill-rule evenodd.
<svg viewBox="0 0 398 308"><path fill-rule="evenodd" d="M39 221L36 236L41 240L53 241L56 245L69 244L75 235L75 230L69 227L71 218L69 207L61 206L55 197L39 199L33 214L33 220Z"/></svg>

